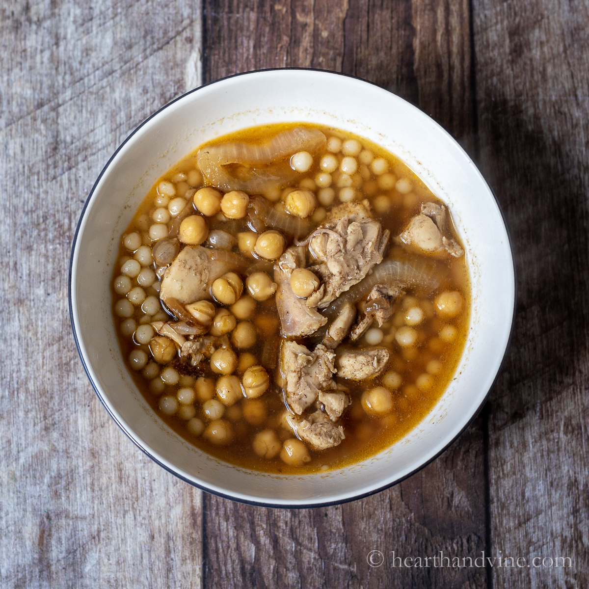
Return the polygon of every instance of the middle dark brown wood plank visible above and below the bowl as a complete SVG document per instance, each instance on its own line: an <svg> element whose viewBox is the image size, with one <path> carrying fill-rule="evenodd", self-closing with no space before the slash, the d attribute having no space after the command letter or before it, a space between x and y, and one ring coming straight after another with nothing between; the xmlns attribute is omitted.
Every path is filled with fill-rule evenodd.
<svg viewBox="0 0 589 589"><path fill-rule="evenodd" d="M419 102L472 145L468 2L276 6L205 2L205 80L285 65L345 71ZM484 569L399 568L391 559L393 550L403 558L440 550L474 558L484 550L484 464L478 419L426 469L362 501L284 511L205 495L205 584L223 587L232 578L256 587L484 587ZM381 567L366 561L371 550L383 552Z"/></svg>

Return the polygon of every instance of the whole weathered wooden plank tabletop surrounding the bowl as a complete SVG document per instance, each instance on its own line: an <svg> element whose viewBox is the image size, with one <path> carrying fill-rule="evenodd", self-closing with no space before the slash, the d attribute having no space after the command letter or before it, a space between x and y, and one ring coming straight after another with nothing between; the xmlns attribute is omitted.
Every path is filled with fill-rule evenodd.
<svg viewBox="0 0 589 589"><path fill-rule="evenodd" d="M1 587L586 586L587 0L0 11ZM130 131L202 82L288 66L366 78L445 125L497 193L518 273L511 350L458 442L388 491L300 511L203 494L141 454L92 392L67 302L82 204ZM525 561L401 567L392 551Z"/></svg>

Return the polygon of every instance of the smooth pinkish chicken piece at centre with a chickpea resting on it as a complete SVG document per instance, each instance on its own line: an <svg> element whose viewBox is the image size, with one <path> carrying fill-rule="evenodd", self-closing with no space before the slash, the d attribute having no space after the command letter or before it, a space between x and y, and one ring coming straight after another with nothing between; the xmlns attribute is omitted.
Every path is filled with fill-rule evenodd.
<svg viewBox="0 0 589 589"><path fill-rule="evenodd" d="M305 267L305 249L289 247L280 260L274 264L276 290L276 310L280 317L281 333L287 337L304 337L315 333L327 323L327 317L310 309L305 299L292 292L290 275L295 268Z"/></svg>

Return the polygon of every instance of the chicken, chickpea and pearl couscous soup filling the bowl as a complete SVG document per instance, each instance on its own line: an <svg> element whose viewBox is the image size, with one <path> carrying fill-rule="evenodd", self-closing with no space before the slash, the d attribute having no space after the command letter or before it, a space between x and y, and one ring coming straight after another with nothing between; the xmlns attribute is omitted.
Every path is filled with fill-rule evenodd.
<svg viewBox="0 0 589 589"><path fill-rule="evenodd" d="M415 428L468 330L449 210L355 135L265 125L151 188L112 280L135 383L178 434L275 473L340 468Z"/></svg>

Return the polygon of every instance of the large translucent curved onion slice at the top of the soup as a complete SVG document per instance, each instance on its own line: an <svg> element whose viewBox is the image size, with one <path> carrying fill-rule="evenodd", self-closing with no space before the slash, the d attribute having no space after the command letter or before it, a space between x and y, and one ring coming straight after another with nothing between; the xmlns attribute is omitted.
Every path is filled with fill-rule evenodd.
<svg viewBox="0 0 589 589"><path fill-rule="evenodd" d="M295 127L283 131L263 144L229 142L206 145L198 151L197 162L204 176L213 186L228 192L243 190L255 194L283 187L297 177L290 166L277 166L279 160L296 153L315 153L325 145L325 135L317 129ZM252 166L249 180L239 180L224 168L229 164ZM255 166L264 166L256 168Z"/></svg>

